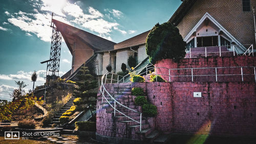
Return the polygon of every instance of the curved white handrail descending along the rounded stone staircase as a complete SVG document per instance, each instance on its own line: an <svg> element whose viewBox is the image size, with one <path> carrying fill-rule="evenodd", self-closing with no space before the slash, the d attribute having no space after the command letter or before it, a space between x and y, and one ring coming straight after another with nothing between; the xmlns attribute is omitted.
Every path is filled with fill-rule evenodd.
<svg viewBox="0 0 256 144"><path fill-rule="evenodd" d="M118 102L118 101L105 89L104 84L106 83L106 79L107 79L107 76L108 76L109 73L110 73L110 72L106 72L106 73L102 76L102 78L101 78L101 86L100 86L100 93L102 94L102 101L101 101L101 103L103 103L103 98L105 98L105 100L109 103L109 105L114 109L114 116L116 116L116 111L119 112L119 113L121 113L122 115L126 116L127 118L129 118L129 119L131 119L131 120L133 120L133 121L139 123L139 124L140 124L140 131L141 131L141 118L142 118L142 113L137 112L137 111L135 111L135 110L133 110L133 109L130 109L130 108L128 108L128 107L122 105L120 102ZM111 76L111 83L112 83L114 73L111 73L111 74L112 74L112 76ZM115 74L115 75L117 75L117 74ZM118 77L119 77L119 76L121 76L121 75L118 75ZM103 83L104 77L105 77L105 81L104 81L104 83ZM119 81L119 80L117 79L117 81ZM102 91L102 88L103 88L103 91ZM108 95L111 97L112 100L114 100L114 106L111 105L111 102L110 102L108 99L106 99L106 97L105 97L105 95L104 95L104 91L106 92L106 94L108 94ZM127 115L125 115L124 113L122 113L122 112L120 112L119 110L117 110L117 109L116 109L116 103L117 103L118 105L120 105L120 106L126 108L126 109L129 109L129 110L131 110L131 111L133 111L133 112L139 113L139 114L140 114L140 121L137 121L137 120L131 118L130 116L127 116Z"/></svg>

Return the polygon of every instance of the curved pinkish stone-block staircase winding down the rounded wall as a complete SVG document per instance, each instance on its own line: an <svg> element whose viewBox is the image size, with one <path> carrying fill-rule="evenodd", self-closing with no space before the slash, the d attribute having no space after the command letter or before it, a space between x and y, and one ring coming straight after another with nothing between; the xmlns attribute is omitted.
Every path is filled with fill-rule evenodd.
<svg viewBox="0 0 256 144"><path fill-rule="evenodd" d="M105 88L122 105L135 111L139 111L138 106L135 106L134 104L134 98L136 96L131 94L131 83L106 84ZM112 100L111 97L106 93L105 97L112 104L112 106L114 106L114 100ZM138 122L133 121L117 111L116 115L114 116L114 108L112 108L105 99L103 99L103 103L101 103L101 100L102 95L98 94L97 127L100 127L100 125L104 127L102 130L97 128L98 134L134 140L147 140L151 142L153 142L153 140L159 135L159 132L154 130L154 128L151 128L144 117L142 117L141 120L142 124L140 131L140 124L138 123L140 121L140 113L136 113L116 104L116 109L118 111Z"/></svg>

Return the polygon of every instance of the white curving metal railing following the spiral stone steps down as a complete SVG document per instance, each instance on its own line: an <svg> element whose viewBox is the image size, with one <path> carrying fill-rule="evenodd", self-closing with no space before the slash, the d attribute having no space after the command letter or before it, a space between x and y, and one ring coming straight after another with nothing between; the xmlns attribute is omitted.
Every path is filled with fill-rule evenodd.
<svg viewBox="0 0 256 144"><path fill-rule="evenodd" d="M111 74L111 78L108 78L108 74ZM114 77L117 76L117 79L113 79L113 76L114 76ZM122 77L122 80L119 80L119 77ZM105 86L104 86L104 85L106 84L106 80L110 80L110 83L112 83L113 81L116 81L117 83L119 83L119 81L120 81L121 83L124 82L124 81L123 81L124 78L123 78L123 76L121 76L121 75L114 74L114 73L109 73L109 72L105 73L105 74L102 76L102 78L101 78L101 85L100 85L100 93L101 93L101 95L102 95L101 103L103 103L103 98L104 98L104 99L108 102L108 104L114 109L114 116L116 116L116 112L121 113L121 114L124 115L125 117L127 117L127 118L129 118L129 119L131 119L131 120L133 120L133 121L135 121L135 122L137 122L138 124L140 124L140 131L141 131L142 113L137 112L137 111L135 111L135 110L133 110L133 109L130 109L130 108L128 108L128 107L122 105L120 102L118 102L118 101L106 90L106 88L105 88ZM103 83L103 82L104 82L104 83ZM105 93L105 94L104 94L104 93ZM111 100L114 101L114 106L113 106L113 104L111 104L111 102L106 98L106 96L111 97ZM122 107L124 107L124 108L126 108L126 109L128 109L128 110L131 110L131 111L133 111L133 112L139 113L139 114L140 114L140 121L137 121L137 120L131 118L130 116L127 116L127 115L125 115L124 113L120 112L118 109L116 109L116 105L120 105L120 106L122 106Z"/></svg>

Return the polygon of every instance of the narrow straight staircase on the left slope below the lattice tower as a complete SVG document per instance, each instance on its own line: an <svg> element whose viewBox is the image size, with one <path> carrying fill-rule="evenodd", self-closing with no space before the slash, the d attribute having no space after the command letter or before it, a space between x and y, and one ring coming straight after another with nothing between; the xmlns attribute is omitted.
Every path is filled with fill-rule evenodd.
<svg viewBox="0 0 256 144"><path fill-rule="evenodd" d="M69 110L73 106L73 101L76 98L76 96L72 96L69 101L61 108L61 110L52 118L50 125L52 124L60 124L59 118L62 116L63 113L65 113L67 110Z"/></svg>

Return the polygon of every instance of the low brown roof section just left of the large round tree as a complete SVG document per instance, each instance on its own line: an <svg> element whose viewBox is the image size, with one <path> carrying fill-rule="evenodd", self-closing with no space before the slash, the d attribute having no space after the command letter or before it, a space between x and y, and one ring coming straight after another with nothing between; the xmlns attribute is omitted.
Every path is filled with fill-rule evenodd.
<svg viewBox="0 0 256 144"><path fill-rule="evenodd" d="M116 50L116 49L129 48L129 47L133 47L133 46L143 45L146 43L146 37L149 32L150 32L150 30L143 32L139 35L136 35L132 38L126 39L123 42L116 44L114 46L114 49Z"/></svg>

